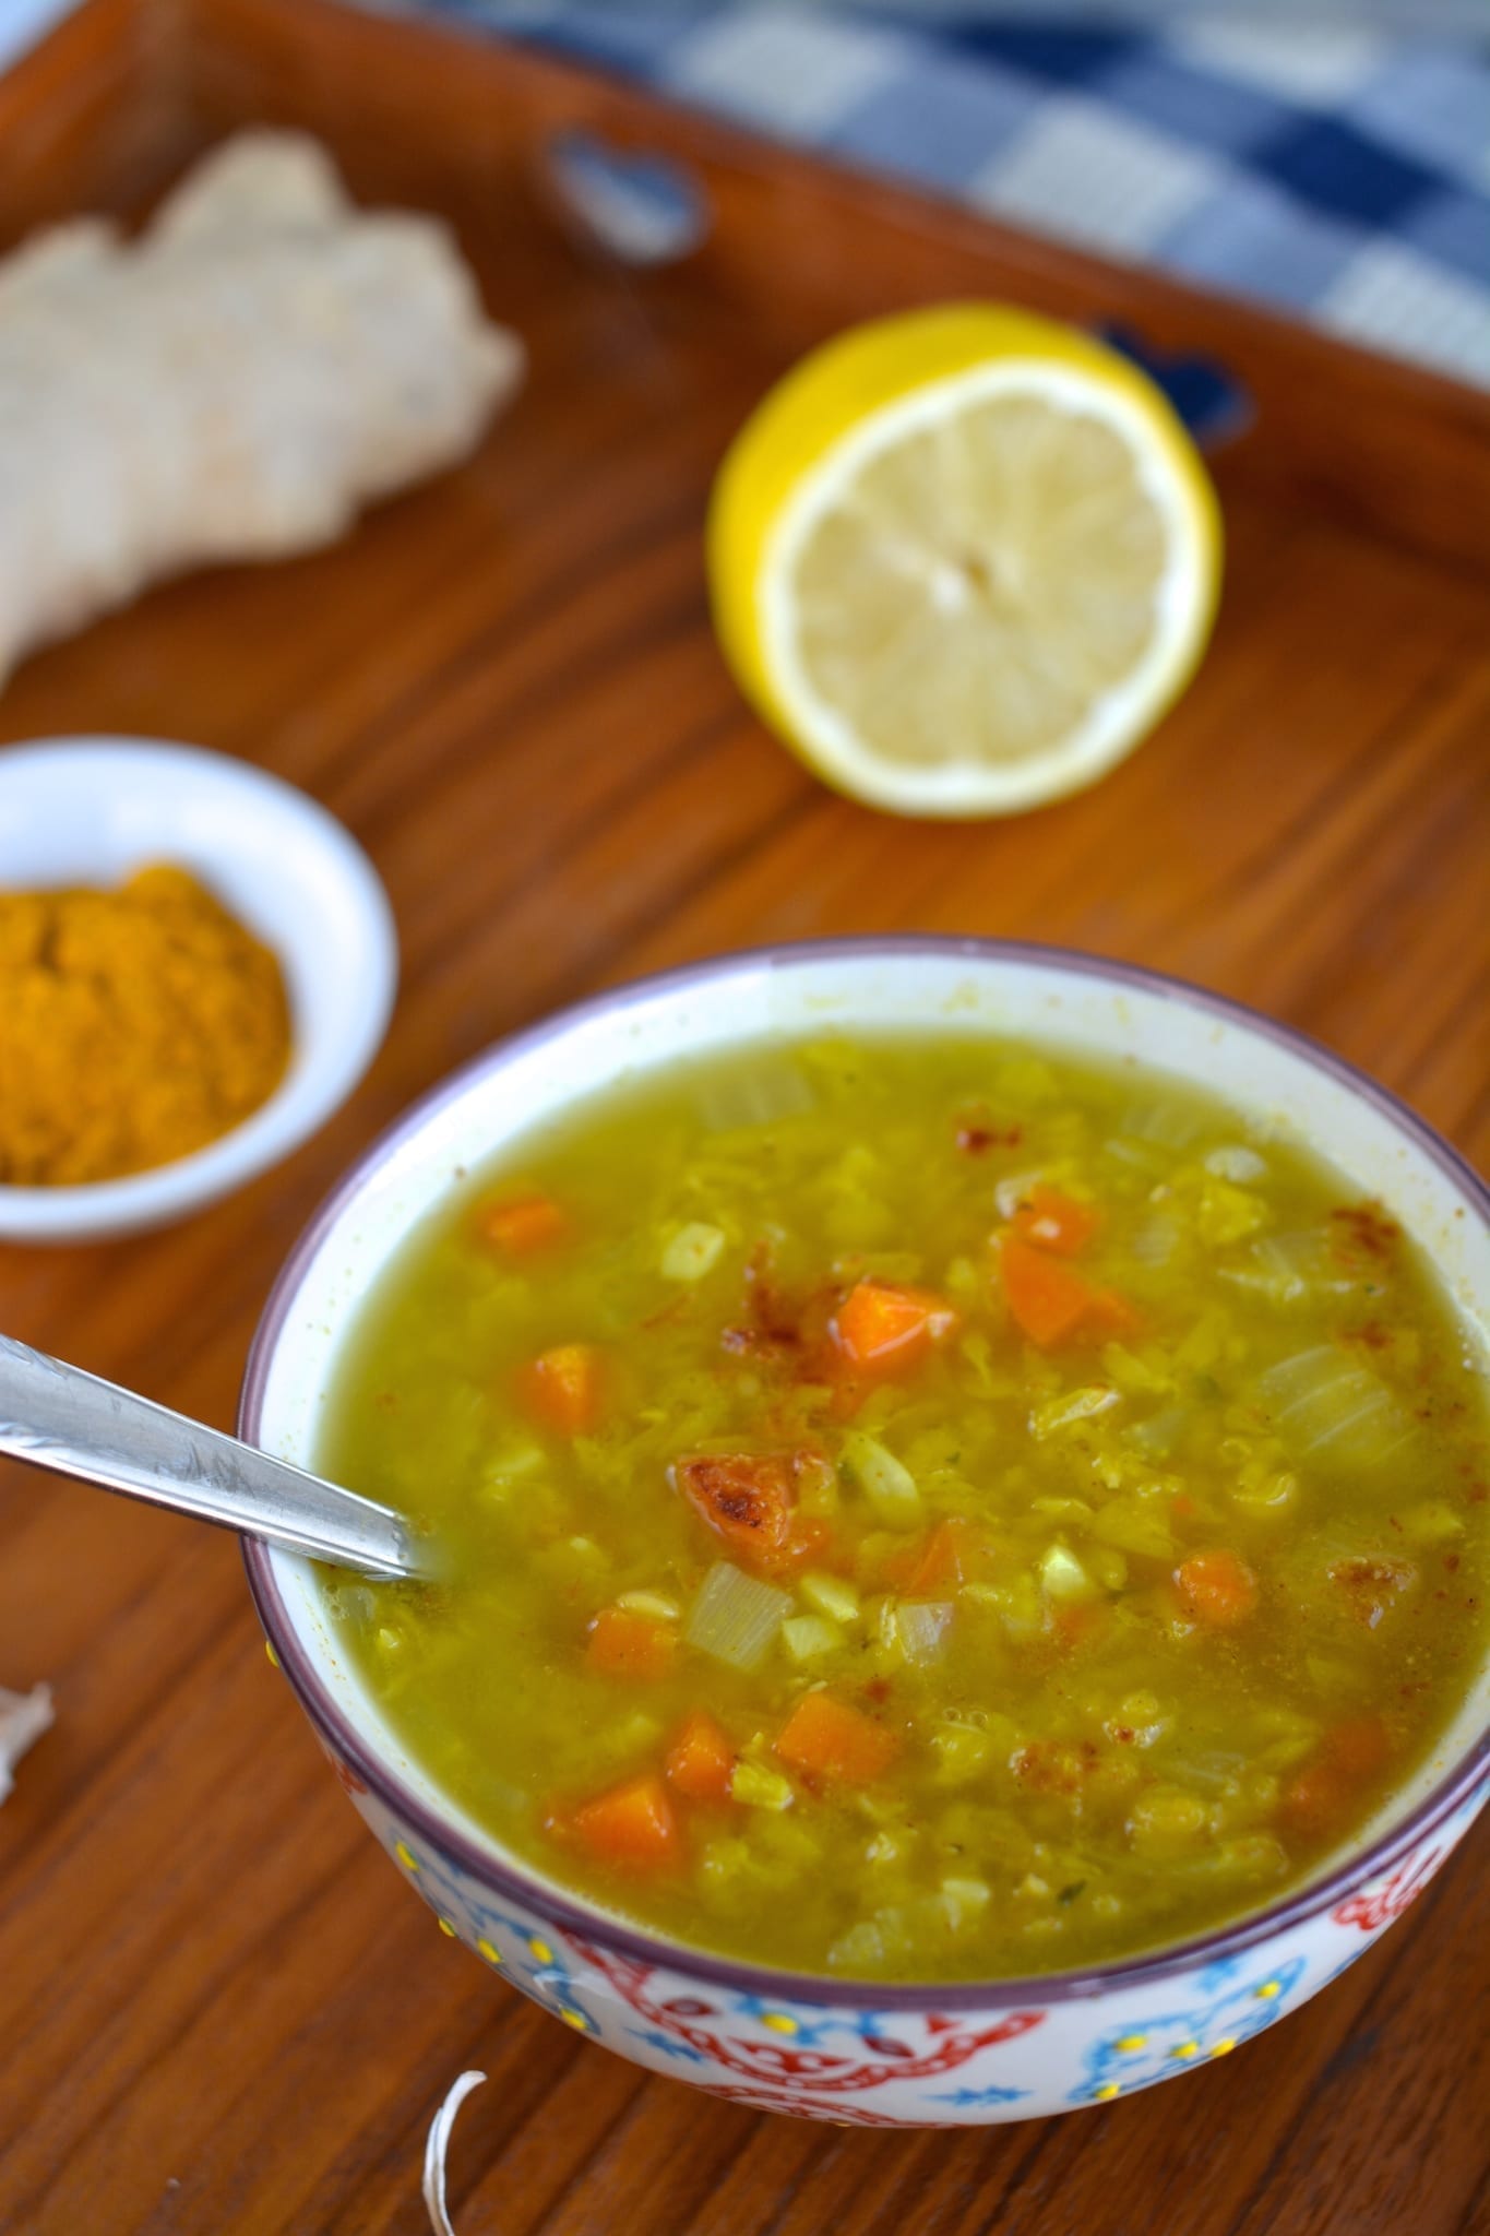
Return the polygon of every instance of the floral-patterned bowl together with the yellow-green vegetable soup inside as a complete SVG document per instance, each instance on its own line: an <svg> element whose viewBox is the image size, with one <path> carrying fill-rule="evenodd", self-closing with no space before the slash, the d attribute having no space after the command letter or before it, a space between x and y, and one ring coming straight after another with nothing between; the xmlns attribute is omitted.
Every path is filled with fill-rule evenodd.
<svg viewBox="0 0 1490 2236"><path fill-rule="evenodd" d="M241 1431L433 1581L248 1547L478 1961L862 2124L1224 2057L1490 1787L1486 1190L1300 1035L1045 948L699 964L395 1125Z"/></svg>

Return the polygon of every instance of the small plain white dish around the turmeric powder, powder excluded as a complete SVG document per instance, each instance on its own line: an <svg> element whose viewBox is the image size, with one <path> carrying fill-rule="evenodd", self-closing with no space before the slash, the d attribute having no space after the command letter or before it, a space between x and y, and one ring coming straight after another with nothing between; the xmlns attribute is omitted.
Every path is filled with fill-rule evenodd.
<svg viewBox="0 0 1490 2236"><path fill-rule="evenodd" d="M226 754L147 738L0 751L0 888L114 885L192 870L270 946L290 993L286 1078L192 1156L87 1187L0 1187L0 1237L103 1241L168 1225L277 1165L353 1091L382 1042L398 935L378 874L335 816Z"/></svg>

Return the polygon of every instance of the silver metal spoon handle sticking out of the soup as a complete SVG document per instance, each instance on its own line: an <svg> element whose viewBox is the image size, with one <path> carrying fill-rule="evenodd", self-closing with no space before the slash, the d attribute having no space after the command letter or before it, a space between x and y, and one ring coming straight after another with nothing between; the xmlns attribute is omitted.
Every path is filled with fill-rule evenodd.
<svg viewBox="0 0 1490 2236"><path fill-rule="evenodd" d="M0 1335L0 1451L371 1576L413 1576L389 1507Z"/></svg>

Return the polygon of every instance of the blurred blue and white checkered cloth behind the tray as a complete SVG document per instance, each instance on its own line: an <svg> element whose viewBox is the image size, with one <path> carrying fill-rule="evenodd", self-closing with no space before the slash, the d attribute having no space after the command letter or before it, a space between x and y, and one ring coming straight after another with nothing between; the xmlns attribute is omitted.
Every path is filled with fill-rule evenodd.
<svg viewBox="0 0 1490 2236"><path fill-rule="evenodd" d="M0 67L65 4L0 0ZM563 49L1490 389L1490 29L907 0L369 4Z"/></svg>

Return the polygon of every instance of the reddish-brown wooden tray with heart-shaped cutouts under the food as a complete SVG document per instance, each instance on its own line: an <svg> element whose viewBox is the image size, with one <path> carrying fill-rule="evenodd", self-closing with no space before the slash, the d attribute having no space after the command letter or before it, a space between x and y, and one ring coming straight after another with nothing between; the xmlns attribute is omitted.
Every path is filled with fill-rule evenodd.
<svg viewBox="0 0 1490 2236"><path fill-rule="evenodd" d="M400 917L353 1105L172 1234L0 1250L0 1324L230 1422L319 1194L474 1049L608 977L835 930L1157 964L1318 1033L1490 1147L1490 411L1260 313L1037 246L523 51L317 0L92 0L0 80L0 239L143 210L252 119L449 212L532 385L335 552L179 584L27 664L0 738L192 738L328 800ZM552 215L561 125L693 165L713 230L625 277ZM916 827L820 792L715 655L699 523L751 400L842 320L956 293L1124 318L1249 385L1206 666L1097 792ZM1224 2066L1068 2120L876 2135L596 2055L400 1892L268 1668L228 1538L0 1476L0 1679L58 1728L0 1811L0 2227L418 2232L453 2075L462 2236L1264 2236L1490 2227L1490 1880L1465 1842ZM1477 1869L1479 1867L1479 1869Z"/></svg>

